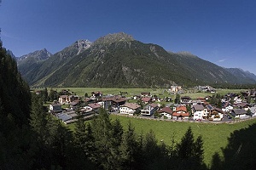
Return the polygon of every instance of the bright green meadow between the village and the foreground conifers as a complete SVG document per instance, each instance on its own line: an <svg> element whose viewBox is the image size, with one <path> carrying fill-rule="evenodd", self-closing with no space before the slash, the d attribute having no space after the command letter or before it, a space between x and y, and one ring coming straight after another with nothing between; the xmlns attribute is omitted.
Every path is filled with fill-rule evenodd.
<svg viewBox="0 0 256 170"><path fill-rule="evenodd" d="M192 128L192 131L197 138L200 134L204 141L205 159L207 165L211 164L212 156L217 152L222 156L221 148L225 148L228 144L228 138L230 133L235 130L249 127L253 123L256 123L256 119L240 122L234 124L226 123L203 123L203 122L168 122L168 121L156 121L147 119L138 119L133 117L110 115L112 120L119 119L124 129L127 129L128 123L135 127L137 133L147 133L152 129L155 133L156 139L160 142L163 140L165 144L170 145L172 138L179 142L183 137L188 127ZM72 130L74 124L68 125Z"/></svg>

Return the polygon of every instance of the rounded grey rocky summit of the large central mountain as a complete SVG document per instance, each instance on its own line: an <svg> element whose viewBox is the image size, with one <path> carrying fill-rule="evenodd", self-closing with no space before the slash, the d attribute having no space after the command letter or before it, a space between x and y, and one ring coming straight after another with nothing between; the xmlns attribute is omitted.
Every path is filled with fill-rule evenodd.
<svg viewBox="0 0 256 170"><path fill-rule="evenodd" d="M107 36L98 38L94 44L110 44L113 42L130 42L134 41L134 38L131 35L125 34L125 32L108 34Z"/></svg>

